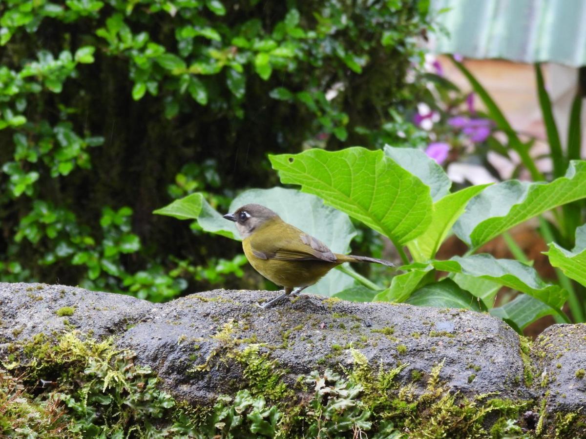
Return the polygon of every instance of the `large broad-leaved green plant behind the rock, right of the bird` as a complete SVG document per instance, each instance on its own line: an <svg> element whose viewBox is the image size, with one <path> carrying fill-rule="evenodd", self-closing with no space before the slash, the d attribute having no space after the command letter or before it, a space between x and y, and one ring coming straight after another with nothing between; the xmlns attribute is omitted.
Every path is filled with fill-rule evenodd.
<svg viewBox="0 0 586 439"><path fill-rule="evenodd" d="M390 157L395 157L397 162L393 162ZM515 260L495 259L489 255L471 255L464 258L456 256L448 261L432 258L447 236L447 229L456 219L459 221L456 223L456 226L459 224L459 227L455 227L456 232L459 231L460 236L471 236L469 239L463 238L471 246L471 253L481 243L521 221L560 204L586 198L586 193L582 193L582 188L586 187L586 174L582 172L586 169L585 162L572 162L565 177L548 184L529 184L512 180L488 188L481 186L449 193L446 191L446 180L441 177L442 170L434 166L425 166L425 160L431 159L415 153L404 155L389 146L385 149L384 157L381 153L352 148L341 152L310 150L295 156L281 155L270 158L284 183L300 184L302 190L321 196L326 203L386 234L396 245L407 244L407 247L413 250L415 260L426 261L404 266L403 269L408 272L394 277L389 289L380 291L375 300L413 301L425 306L455 306L482 310L486 309L486 305L497 292L492 285L488 294L486 290L477 290L475 283L468 282L459 286L452 280L440 279L437 282L434 276L427 275L430 270L438 270L488 280L529 294L536 299L530 301L532 306L524 310L525 314L520 320L515 320L520 315L512 309L507 310L509 312L495 312L495 315L504 317L515 328L522 328L542 317L544 310L547 314L558 315L567 320L561 311L567 299L567 291L544 283L530 266ZM389 162L391 164L388 164ZM415 186L408 183L413 174L406 169L399 167L401 173L394 172L394 178L389 179L388 175L394 170L393 165L398 166L398 162L403 163L408 169L417 169L417 184L435 186L428 187L427 191L427 194L438 194L435 203L432 203L429 196L424 201L418 196ZM387 174L379 173L379 169L387 169ZM424 177L423 174L426 172L428 175ZM336 181L339 175L345 177L346 183ZM518 188L522 190L519 191ZM352 198L348 195L350 191L353 194ZM403 198L401 194L404 194ZM419 216L410 215L409 212L417 211L417 208L421 208L423 212L417 212ZM430 224L428 221L434 214L437 222ZM405 227L408 231L407 238L397 234L397 228L385 227L386 221ZM398 246L397 249L406 260L401 247ZM527 301L523 303L527 304Z"/></svg>

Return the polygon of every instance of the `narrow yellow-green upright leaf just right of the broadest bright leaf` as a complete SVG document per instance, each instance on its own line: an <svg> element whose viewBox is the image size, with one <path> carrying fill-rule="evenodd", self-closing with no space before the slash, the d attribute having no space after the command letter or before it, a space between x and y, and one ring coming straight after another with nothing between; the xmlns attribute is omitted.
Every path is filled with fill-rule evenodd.
<svg viewBox="0 0 586 439"><path fill-rule="evenodd" d="M452 225L458 220L468 201L484 190L488 184L479 184L449 194L433 205L430 227L407 244L413 259L423 262L435 256L440 245L448 236Z"/></svg>

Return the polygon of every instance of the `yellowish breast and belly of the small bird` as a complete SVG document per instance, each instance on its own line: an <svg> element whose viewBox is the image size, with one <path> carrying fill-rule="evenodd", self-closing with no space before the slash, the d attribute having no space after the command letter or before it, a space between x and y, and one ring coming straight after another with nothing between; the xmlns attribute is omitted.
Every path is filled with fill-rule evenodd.
<svg viewBox="0 0 586 439"><path fill-rule="evenodd" d="M285 288L313 285L338 265L321 260L260 259L254 256L247 239L242 242L242 248L246 259L258 273Z"/></svg>

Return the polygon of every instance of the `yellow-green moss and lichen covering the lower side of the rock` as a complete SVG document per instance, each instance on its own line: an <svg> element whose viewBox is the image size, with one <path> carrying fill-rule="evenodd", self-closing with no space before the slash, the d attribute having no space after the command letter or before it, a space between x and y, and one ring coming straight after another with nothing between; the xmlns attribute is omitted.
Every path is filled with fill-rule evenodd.
<svg viewBox="0 0 586 439"><path fill-rule="evenodd" d="M0 426L17 433L19 420L33 417L26 428L38 437L505 437L521 431L521 413L531 405L451 393L440 379L442 363L414 377L427 383L422 393L397 379L407 364L377 368L355 349L344 373L314 371L290 385L260 345L240 349L233 331L227 324L217 334L223 349L213 360L243 367L241 389L196 407L161 390L151 369L136 365L134 353L116 349L113 339L73 331L51 341L39 334L0 375L0 404L8 401Z"/></svg>

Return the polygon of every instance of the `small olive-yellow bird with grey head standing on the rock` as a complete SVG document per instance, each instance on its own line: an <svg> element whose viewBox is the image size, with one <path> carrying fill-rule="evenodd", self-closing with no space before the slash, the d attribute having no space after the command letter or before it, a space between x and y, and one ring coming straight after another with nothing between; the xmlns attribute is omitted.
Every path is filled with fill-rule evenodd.
<svg viewBox="0 0 586 439"><path fill-rule="evenodd" d="M295 296L318 282L332 268L345 262L393 263L369 256L340 255L260 204L246 204L223 215L236 223L246 259L258 273L284 287L284 293L263 304L264 309Z"/></svg>

